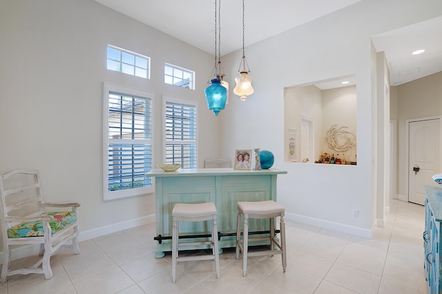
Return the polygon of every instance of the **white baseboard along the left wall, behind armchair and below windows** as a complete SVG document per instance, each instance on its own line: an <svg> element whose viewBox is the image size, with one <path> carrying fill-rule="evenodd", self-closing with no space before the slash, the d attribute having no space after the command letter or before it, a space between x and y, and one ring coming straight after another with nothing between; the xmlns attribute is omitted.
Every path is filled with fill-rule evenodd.
<svg viewBox="0 0 442 294"><path fill-rule="evenodd" d="M116 224L109 224L108 226L99 227L97 229L92 229L88 231L81 231L81 228L79 228L80 232L78 235L78 241L81 242L90 240L92 238L97 238L102 235L108 235L117 231L139 227L143 224L150 224L151 222L155 222L155 214L152 214L151 216L143 216L142 218L135 218L133 220L126 220L124 222L118 222ZM11 260L18 260L19 258L25 258L26 256L38 254L39 249L39 245L19 246L11 250ZM0 253L0 258L1 260L3 260L3 251L1 251Z"/></svg>

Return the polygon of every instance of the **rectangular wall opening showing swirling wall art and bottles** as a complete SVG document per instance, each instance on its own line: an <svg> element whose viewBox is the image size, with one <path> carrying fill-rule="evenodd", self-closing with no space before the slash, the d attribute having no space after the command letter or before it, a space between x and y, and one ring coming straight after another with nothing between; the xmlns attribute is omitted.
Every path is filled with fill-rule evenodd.
<svg viewBox="0 0 442 294"><path fill-rule="evenodd" d="M356 165L356 103L354 75L285 87L285 162Z"/></svg>

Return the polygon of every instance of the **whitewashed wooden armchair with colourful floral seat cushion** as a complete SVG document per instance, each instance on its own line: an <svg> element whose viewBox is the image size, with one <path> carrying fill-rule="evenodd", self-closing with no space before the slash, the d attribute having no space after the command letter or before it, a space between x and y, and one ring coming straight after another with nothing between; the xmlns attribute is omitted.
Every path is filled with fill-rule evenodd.
<svg viewBox="0 0 442 294"><path fill-rule="evenodd" d="M0 176L0 220L3 237L3 268L0 282L9 275L44 273L52 277L50 256L60 248L79 254L78 203L45 203L38 171L16 169ZM46 211L52 207L51 211ZM55 209L55 211L54 211ZM42 258L27 269L11 271L11 246L38 244Z"/></svg>

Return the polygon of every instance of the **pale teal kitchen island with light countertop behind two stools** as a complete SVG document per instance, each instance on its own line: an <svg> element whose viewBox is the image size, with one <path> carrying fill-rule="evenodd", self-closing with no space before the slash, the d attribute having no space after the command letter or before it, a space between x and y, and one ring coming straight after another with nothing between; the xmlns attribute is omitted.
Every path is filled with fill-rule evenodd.
<svg viewBox="0 0 442 294"><path fill-rule="evenodd" d="M157 244L155 258L172 250L172 209L175 203L213 202L218 211L219 250L236 246L236 203L238 201L276 201L276 176L287 174L279 169L247 171L236 169L153 169L146 176L155 177ZM184 222L180 235L198 235L206 240L209 222ZM265 220L249 220L249 231L260 235L269 231ZM182 237L180 237L181 239ZM252 243L253 244L253 243ZM189 249L204 249L204 246Z"/></svg>

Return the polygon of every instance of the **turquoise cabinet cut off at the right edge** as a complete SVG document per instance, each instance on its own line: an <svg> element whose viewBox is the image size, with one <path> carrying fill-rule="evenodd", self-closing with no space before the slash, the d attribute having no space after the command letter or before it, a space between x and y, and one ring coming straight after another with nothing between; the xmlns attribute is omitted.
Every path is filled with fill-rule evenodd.
<svg viewBox="0 0 442 294"><path fill-rule="evenodd" d="M430 294L442 293L441 283L441 222L442 187L425 186L425 231L423 252L427 290Z"/></svg>

